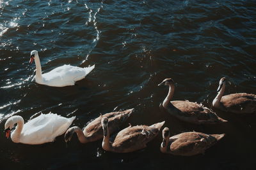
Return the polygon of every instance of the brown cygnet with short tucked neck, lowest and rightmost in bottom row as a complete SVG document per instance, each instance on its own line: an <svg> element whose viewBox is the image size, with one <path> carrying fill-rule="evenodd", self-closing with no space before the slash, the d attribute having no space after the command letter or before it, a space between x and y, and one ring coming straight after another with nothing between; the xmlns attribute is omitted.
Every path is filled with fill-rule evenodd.
<svg viewBox="0 0 256 170"><path fill-rule="evenodd" d="M204 153L225 134L204 134L201 132L184 132L170 138L170 131L167 127L163 129L163 142L160 150L163 153L173 155L192 156Z"/></svg>

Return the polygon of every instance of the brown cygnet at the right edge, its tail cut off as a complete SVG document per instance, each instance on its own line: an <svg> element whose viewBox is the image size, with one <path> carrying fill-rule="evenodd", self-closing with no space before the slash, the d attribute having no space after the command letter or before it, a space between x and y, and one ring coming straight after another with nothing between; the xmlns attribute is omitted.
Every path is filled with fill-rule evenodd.
<svg viewBox="0 0 256 170"><path fill-rule="evenodd" d="M256 95L246 93L228 94L223 96L226 87L226 78L220 79L217 96L212 106L222 111L232 113L256 113Z"/></svg>

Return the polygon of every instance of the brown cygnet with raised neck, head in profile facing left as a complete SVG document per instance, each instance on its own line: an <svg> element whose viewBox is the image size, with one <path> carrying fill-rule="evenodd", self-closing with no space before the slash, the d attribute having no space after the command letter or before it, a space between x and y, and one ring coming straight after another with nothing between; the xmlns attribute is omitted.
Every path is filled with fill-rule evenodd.
<svg viewBox="0 0 256 170"><path fill-rule="evenodd" d="M227 122L223 118L218 117L216 113L209 108L202 106L202 104L193 103L189 101L171 101L174 93L174 81L172 78L166 78L160 85L168 85L169 92L163 101L164 110L179 120L190 122L193 124L218 124Z"/></svg>

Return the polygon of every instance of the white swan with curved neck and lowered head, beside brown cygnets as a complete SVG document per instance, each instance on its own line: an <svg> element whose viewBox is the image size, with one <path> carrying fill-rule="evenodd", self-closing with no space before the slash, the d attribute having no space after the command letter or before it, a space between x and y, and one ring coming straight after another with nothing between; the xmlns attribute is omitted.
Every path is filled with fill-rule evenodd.
<svg viewBox="0 0 256 170"><path fill-rule="evenodd" d="M65 118L49 113L47 115L41 114L24 124L22 117L13 116L5 122L4 129L6 138L9 138L13 125L17 124L16 129L11 134L14 143L39 145L52 142L57 136L65 133L75 118Z"/></svg>

